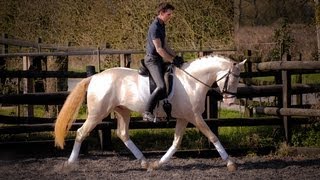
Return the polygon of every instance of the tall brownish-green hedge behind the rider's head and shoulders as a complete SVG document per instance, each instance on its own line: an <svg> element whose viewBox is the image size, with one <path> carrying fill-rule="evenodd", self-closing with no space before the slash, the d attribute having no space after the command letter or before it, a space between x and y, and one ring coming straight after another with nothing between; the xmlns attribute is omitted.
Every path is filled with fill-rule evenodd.
<svg viewBox="0 0 320 180"><path fill-rule="evenodd" d="M46 43L144 49L146 32L159 1L12 0L0 1L0 32ZM168 39L177 49L215 47L232 39L232 1L172 1L175 16Z"/></svg>

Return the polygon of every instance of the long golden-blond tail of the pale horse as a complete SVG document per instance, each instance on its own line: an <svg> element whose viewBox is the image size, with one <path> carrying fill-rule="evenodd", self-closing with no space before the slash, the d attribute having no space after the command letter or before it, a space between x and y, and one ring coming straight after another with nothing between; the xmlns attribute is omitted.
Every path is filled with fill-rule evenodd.
<svg viewBox="0 0 320 180"><path fill-rule="evenodd" d="M64 148L64 139L67 136L72 123L75 121L82 102L85 99L85 94L91 77L81 80L67 97L62 109L57 117L54 126L55 146Z"/></svg>

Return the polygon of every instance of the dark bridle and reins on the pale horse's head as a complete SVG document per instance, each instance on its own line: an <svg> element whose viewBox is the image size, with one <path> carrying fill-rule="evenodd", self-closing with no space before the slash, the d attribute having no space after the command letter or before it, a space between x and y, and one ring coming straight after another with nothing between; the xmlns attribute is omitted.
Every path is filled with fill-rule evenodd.
<svg viewBox="0 0 320 180"><path fill-rule="evenodd" d="M233 77L236 77L236 78L239 78L240 75L237 75L237 74L234 74L232 71L231 71L231 68L229 69L229 71L223 75L222 77L220 77L218 80L216 80L213 84L216 84L215 87L212 87L212 86L209 86L208 84L202 82L201 80L199 80L198 78L194 77L192 74L188 73L187 71L185 71L184 69L181 69L184 73L186 73L188 76L192 77L193 79L195 79L196 81L198 81L199 83L203 84L204 86L208 87L210 90L214 90L216 91L218 94L220 95L223 95L223 94L227 94L228 96L224 97L224 98L234 98L236 97L236 94L235 92L230 92L228 91L228 82L229 82L229 77L230 75L232 75ZM223 78L226 78L226 80L224 81L224 85L223 85L223 89L222 89L222 92L220 91L217 91L216 90L216 87L218 87L217 83L219 81L221 81Z"/></svg>

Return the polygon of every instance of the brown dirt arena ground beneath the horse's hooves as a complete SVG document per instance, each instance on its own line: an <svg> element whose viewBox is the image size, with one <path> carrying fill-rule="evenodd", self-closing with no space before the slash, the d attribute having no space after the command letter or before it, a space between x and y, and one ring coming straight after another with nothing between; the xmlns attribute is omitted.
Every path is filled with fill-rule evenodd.
<svg viewBox="0 0 320 180"><path fill-rule="evenodd" d="M220 158L174 157L160 169L147 172L132 156L90 151L72 167L68 155L20 156L0 159L0 179L319 179L320 154L306 156L234 157L238 171L228 172ZM158 160L161 156L148 157Z"/></svg>

